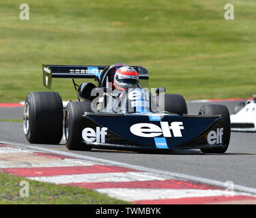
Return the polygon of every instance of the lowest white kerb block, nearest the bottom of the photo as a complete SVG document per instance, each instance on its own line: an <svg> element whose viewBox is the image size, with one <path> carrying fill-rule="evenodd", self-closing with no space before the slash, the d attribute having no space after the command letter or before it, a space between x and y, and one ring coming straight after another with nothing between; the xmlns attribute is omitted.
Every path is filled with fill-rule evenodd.
<svg viewBox="0 0 256 218"><path fill-rule="evenodd" d="M178 199L178 198L200 198L212 196L225 196L228 194L224 190L201 190L201 189L96 189L100 193L105 193L112 198L118 198L126 201L136 200L160 200L160 199ZM229 193L230 194L230 193ZM234 196L242 195L233 193Z"/></svg>

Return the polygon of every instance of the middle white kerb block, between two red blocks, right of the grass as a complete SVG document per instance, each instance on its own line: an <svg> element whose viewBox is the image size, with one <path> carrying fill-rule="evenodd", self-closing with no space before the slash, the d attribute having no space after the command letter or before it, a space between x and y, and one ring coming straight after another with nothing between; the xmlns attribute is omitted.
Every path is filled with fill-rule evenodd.
<svg viewBox="0 0 256 218"><path fill-rule="evenodd" d="M107 172L94 174L74 174L60 176L27 177L44 183L104 183L104 182L130 182L130 181L164 181L173 179L171 176L157 176L150 172Z"/></svg>

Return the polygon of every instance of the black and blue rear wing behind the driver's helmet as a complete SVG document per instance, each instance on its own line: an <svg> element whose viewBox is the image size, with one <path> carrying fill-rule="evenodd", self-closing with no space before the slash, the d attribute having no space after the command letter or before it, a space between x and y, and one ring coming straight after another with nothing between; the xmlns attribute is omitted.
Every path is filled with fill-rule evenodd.
<svg viewBox="0 0 256 218"><path fill-rule="evenodd" d="M110 65L46 65L42 64L44 87L51 89L53 78L94 78L100 83L100 76ZM132 66L139 74L142 87L148 85L148 71L141 66Z"/></svg>

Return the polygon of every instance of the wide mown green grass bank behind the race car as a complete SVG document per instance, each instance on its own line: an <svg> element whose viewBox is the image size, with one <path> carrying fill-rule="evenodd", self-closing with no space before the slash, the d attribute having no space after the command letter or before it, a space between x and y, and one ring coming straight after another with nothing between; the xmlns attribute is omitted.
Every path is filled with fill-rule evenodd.
<svg viewBox="0 0 256 218"><path fill-rule="evenodd" d="M42 63L143 65L150 87L185 99L251 97L256 74L256 2L222 0L35 1L0 3L0 102L24 101L42 86ZM70 80L53 91L76 99Z"/></svg>

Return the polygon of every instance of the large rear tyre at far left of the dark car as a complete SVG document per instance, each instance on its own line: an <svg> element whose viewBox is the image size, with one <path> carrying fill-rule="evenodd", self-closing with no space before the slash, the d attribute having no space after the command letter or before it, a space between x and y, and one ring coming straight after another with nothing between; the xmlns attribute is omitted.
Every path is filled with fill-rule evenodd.
<svg viewBox="0 0 256 218"><path fill-rule="evenodd" d="M62 138L63 105L59 93L33 92L23 109L23 130L35 144L59 144Z"/></svg>

